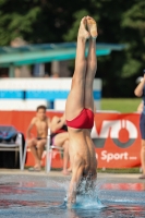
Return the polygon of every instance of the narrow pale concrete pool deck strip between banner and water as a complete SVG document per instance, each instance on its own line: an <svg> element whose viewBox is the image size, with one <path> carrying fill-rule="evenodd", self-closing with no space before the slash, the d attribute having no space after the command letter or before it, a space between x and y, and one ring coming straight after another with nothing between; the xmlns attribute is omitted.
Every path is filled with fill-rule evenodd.
<svg viewBox="0 0 145 218"><path fill-rule="evenodd" d="M27 169L0 169L0 175L37 175L37 177L49 177L49 178L64 178L70 179L70 175L63 175L61 171L51 170L49 173L46 173L45 170L40 172L29 172ZM98 180L106 180L110 182L123 182L123 183L145 183L145 179L138 179L141 173L106 173L98 172Z"/></svg>

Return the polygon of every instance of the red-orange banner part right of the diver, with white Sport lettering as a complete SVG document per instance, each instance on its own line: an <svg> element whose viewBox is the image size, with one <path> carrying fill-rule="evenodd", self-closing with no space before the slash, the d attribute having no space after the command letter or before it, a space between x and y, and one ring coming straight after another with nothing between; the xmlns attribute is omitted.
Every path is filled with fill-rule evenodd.
<svg viewBox="0 0 145 218"><path fill-rule="evenodd" d="M92 137L99 168L130 168L141 165L138 113L96 113Z"/></svg>

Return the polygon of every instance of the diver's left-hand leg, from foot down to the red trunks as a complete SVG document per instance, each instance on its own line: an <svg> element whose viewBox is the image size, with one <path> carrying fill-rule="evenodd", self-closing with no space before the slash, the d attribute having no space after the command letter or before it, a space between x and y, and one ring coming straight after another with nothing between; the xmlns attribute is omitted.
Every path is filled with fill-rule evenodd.
<svg viewBox="0 0 145 218"><path fill-rule="evenodd" d="M75 58L75 70L72 78L72 86L67 99L67 120L74 119L84 108L84 92L86 76L85 46L89 34L86 31L86 17L83 17L77 34L77 47Z"/></svg>

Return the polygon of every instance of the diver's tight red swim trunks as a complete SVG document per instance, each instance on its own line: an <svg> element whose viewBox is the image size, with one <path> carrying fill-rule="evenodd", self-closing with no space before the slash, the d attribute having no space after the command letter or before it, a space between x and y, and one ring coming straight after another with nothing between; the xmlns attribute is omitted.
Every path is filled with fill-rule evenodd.
<svg viewBox="0 0 145 218"><path fill-rule="evenodd" d="M94 112L84 108L73 120L67 120L67 125L74 129L92 129L94 125Z"/></svg>

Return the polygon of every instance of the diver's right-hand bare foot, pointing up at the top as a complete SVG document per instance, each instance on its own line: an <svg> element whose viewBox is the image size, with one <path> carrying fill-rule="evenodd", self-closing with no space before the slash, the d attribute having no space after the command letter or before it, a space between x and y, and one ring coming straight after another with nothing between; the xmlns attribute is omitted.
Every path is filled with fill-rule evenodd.
<svg viewBox="0 0 145 218"><path fill-rule="evenodd" d="M96 21L94 19L92 19L90 16L87 16L86 20L87 20L87 29L88 29L90 36L93 38L97 38L98 33L97 33Z"/></svg>

